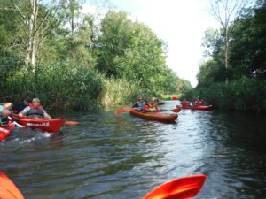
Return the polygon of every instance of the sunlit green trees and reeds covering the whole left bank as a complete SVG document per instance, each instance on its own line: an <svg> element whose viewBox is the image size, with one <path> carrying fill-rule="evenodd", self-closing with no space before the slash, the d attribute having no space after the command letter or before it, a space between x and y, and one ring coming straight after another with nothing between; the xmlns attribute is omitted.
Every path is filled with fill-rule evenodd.
<svg viewBox="0 0 266 199"><path fill-rule="evenodd" d="M98 21L82 15L82 0L34 2L0 0L5 100L30 95L52 109L92 109L192 88L168 69L166 44L127 13Z"/></svg>

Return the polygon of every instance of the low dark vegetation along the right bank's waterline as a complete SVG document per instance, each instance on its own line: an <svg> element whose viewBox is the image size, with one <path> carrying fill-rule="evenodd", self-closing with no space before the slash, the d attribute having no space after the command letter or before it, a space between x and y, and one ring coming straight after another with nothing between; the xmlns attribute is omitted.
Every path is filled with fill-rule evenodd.
<svg viewBox="0 0 266 199"><path fill-rule="evenodd" d="M236 111L266 111L266 80L242 78L208 87L194 88L186 99L203 99L214 108Z"/></svg>

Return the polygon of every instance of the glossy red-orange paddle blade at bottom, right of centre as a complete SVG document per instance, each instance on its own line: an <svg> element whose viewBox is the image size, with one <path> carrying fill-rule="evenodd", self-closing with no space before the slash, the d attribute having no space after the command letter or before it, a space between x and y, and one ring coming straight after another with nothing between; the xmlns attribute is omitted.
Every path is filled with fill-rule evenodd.
<svg viewBox="0 0 266 199"><path fill-rule="evenodd" d="M188 199L200 192L205 175L192 175L180 179L170 180L153 189L143 199Z"/></svg>

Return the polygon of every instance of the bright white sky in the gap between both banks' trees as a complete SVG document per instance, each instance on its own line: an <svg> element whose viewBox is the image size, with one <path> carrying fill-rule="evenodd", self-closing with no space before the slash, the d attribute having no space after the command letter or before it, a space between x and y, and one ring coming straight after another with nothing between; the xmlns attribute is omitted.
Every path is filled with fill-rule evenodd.
<svg viewBox="0 0 266 199"><path fill-rule="evenodd" d="M109 0L109 4L127 11L130 19L145 23L167 42L168 67L193 87L197 85L204 32L208 27L219 27L208 12L208 0ZM90 6L84 6L83 11L91 11Z"/></svg>

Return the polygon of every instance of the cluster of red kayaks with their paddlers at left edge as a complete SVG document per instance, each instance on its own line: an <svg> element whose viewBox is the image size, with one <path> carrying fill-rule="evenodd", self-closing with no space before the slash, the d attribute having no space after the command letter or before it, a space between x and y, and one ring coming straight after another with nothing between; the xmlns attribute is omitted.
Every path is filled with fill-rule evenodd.
<svg viewBox="0 0 266 199"><path fill-rule="evenodd" d="M27 98L23 103L14 106L12 103L0 104L0 141L12 134L15 126L58 133L65 123L65 119L51 119L38 98Z"/></svg>

